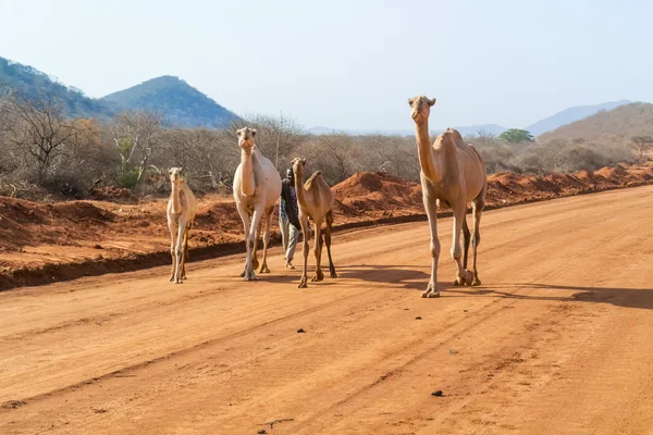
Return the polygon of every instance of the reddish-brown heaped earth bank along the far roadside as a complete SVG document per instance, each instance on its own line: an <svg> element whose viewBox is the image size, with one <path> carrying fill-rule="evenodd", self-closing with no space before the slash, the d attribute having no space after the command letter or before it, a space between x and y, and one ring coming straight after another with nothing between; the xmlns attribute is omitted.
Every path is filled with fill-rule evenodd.
<svg viewBox="0 0 653 435"><path fill-rule="evenodd" d="M651 184L653 167L619 165L546 176L504 172L490 175L488 183L486 207L492 209ZM386 173L355 174L333 191L336 228L424 216L421 186ZM41 203L0 197L0 289L168 264L167 199L139 200L120 189L106 194L110 201ZM279 241L276 220L275 211L271 227ZM244 250L241 216L231 197L199 198L189 245L193 259Z"/></svg>

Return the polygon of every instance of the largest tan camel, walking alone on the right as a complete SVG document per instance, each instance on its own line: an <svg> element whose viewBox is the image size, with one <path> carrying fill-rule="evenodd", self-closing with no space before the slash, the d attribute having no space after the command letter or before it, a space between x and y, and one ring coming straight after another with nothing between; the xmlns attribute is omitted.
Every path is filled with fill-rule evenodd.
<svg viewBox="0 0 653 435"><path fill-rule="evenodd" d="M454 128L447 128L431 145L429 115L431 107L435 104L434 98L431 100L424 96L415 97L409 99L408 103L415 121L422 197L431 228L431 279L421 296L422 298L436 298L440 296L440 291L438 291L438 259L440 258L438 207L451 208L454 212L454 239L451 253L458 266L454 285L477 286L481 284L477 270L477 249L481 243L479 226L488 191L485 162L471 145L463 141L460 133ZM473 214L473 235L471 236L473 273L467 270L470 241L466 219L467 202L471 202ZM460 261L460 229L463 229L465 245L463 262Z"/></svg>

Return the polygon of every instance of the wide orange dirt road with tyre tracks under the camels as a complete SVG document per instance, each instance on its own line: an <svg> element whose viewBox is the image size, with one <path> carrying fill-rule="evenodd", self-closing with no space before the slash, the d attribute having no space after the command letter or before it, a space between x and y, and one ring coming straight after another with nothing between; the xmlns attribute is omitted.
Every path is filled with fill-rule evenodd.
<svg viewBox="0 0 653 435"><path fill-rule="evenodd" d="M488 212L475 288L449 285L441 220L440 299L419 297L427 223L337 235L341 278L307 290L275 249L256 283L236 256L181 286L159 268L0 294L0 433L653 433L652 204Z"/></svg>

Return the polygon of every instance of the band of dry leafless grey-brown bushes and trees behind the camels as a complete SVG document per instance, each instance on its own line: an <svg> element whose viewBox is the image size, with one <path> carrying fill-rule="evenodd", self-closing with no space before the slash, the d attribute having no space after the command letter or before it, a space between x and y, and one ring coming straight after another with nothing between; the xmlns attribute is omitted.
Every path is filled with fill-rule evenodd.
<svg viewBox="0 0 653 435"><path fill-rule="evenodd" d="M110 121L70 119L56 96L0 97L0 195L38 199L49 195L86 198L107 188L134 195L168 191L167 174L184 167L197 192L231 189L241 153L235 130L257 128L257 145L285 173L297 156L308 171L322 170L331 185L361 171L383 171L419 181L411 136L309 135L289 119L245 116L229 128L173 128L153 112L124 112ZM468 138L490 173L568 172L632 162L621 144L510 144L491 135Z"/></svg>

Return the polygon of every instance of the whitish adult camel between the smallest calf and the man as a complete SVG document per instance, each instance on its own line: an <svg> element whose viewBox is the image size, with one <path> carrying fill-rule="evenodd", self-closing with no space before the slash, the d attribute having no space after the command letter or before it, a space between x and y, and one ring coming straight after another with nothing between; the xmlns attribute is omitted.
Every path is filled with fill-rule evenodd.
<svg viewBox="0 0 653 435"><path fill-rule="evenodd" d="M237 132L241 147L241 164L234 174L234 199L245 229L247 260L241 274L245 281L256 279L258 269L257 248L261 217L266 216L263 232L263 259L259 273L270 273L268 269L268 244L270 243L270 219L276 199L281 196L281 177L272 162L266 159L256 146L256 129L241 128Z"/></svg>

